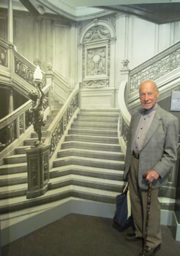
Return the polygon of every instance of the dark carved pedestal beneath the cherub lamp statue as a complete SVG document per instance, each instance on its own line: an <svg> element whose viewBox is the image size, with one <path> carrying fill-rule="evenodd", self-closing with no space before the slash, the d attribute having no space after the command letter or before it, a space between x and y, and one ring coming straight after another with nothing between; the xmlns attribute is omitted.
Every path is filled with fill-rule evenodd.
<svg viewBox="0 0 180 256"><path fill-rule="evenodd" d="M26 197L34 198L44 195L49 181L50 144L29 148L27 153L28 191Z"/></svg>

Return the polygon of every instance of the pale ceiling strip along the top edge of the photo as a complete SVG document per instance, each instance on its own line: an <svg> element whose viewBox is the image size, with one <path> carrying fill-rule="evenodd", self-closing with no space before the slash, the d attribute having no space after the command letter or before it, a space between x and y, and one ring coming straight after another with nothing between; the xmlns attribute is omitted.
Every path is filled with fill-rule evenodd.
<svg viewBox="0 0 180 256"><path fill-rule="evenodd" d="M0 0L0 7L3 3L7 8L8 1ZM54 13L73 21L112 12L135 15L156 24L180 21L180 0L13 0L13 8L16 7L36 16Z"/></svg>

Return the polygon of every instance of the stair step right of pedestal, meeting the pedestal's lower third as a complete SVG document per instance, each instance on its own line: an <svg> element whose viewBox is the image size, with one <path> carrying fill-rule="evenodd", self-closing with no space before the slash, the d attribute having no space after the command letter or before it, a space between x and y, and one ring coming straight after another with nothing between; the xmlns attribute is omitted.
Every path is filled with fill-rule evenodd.
<svg viewBox="0 0 180 256"><path fill-rule="evenodd" d="M123 189L123 184L123 181L69 174L62 177L52 178L48 184L48 189L57 189L58 187L67 185L77 185L98 190L120 192Z"/></svg>

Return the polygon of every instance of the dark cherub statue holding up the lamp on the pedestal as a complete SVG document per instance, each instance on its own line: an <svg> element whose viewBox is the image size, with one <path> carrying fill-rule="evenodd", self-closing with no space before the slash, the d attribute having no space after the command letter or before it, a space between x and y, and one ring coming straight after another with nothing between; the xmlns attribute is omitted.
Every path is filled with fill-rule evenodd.
<svg viewBox="0 0 180 256"><path fill-rule="evenodd" d="M45 99L45 94L41 89L41 83L36 83L38 92L30 91L28 96L32 100L32 107L29 109L30 112L33 112L33 127L34 131L38 133L38 141L32 144L32 147L41 146L42 143L42 132L41 127L45 125L43 121L44 109L43 103Z"/></svg>

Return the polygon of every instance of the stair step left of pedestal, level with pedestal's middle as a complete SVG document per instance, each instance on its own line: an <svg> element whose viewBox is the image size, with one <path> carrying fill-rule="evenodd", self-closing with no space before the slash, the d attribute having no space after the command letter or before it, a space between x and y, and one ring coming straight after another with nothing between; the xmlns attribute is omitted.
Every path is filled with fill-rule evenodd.
<svg viewBox="0 0 180 256"><path fill-rule="evenodd" d="M0 166L0 175L27 172L27 163L3 164ZM1 177L1 176L0 176Z"/></svg>

